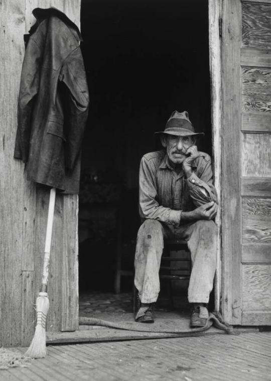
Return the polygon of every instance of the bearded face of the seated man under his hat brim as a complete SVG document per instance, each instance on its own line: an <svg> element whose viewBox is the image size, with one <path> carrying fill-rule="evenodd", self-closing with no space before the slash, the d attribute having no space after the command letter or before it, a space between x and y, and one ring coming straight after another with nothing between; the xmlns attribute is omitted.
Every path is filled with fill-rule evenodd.
<svg viewBox="0 0 271 381"><path fill-rule="evenodd" d="M174 164L182 164L187 157L187 149L195 144L195 138L193 136L167 135L164 137L164 143L162 141L162 144L167 148L170 161Z"/></svg>

